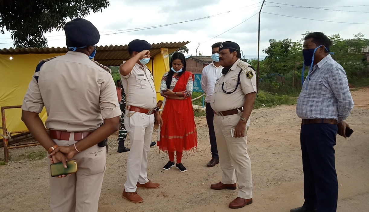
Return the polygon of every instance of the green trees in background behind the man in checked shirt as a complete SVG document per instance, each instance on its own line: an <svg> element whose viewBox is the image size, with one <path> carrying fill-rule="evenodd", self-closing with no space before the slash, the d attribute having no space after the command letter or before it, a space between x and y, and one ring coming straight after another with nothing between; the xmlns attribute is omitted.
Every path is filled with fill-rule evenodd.
<svg viewBox="0 0 369 212"><path fill-rule="evenodd" d="M303 34L303 38L293 42L291 39L269 40L268 48L263 49L266 53L264 60L260 62L259 76L263 78L260 88L272 93L291 93L293 89L301 88L301 70L303 67L303 42L304 37L309 32ZM368 62L364 58L363 52L367 51L369 39L365 35L355 34L352 39L341 38L341 35L329 37L332 41L330 51L334 52L332 58L344 67L349 82L354 82L362 77L369 77ZM249 63L256 67L257 61L250 60ZM284 76L286 83L276 81L274 73ZM305 72L307 75L307 72ZM293 92L293 91L292 91Z"/></svg>

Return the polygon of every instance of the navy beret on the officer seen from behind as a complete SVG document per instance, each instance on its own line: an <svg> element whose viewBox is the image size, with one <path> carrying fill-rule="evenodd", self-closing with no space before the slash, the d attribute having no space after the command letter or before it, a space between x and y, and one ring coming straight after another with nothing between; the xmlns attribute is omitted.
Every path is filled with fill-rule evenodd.
<svg viewBox="0 0 369 212"><path fill-rule="evenodd" d="M95 45L100 40L100 33L96 27L86 19L76 18L64 26L65 39L68 47L82 47Z"/></svg>

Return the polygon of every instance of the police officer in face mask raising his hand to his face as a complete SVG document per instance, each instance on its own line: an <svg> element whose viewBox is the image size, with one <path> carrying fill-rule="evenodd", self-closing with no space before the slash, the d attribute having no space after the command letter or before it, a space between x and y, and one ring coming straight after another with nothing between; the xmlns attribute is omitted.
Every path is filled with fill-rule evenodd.
<svg viewBox="0 0 369 212"><path fill-rule="evenodd" d="M137 194L139 188L159 188L160 184L147 179L147 155L150 149L154 121L163 123L156 107L154 77L145 65L150 60L151 45L143 40L133 40L128 44L131 59L120 68L120 77L126 95L124 126L131 140L131 151L127 160L127 181L123 198L131 202L144 201ZM155 114L155 115L154 115Z"/></svg>

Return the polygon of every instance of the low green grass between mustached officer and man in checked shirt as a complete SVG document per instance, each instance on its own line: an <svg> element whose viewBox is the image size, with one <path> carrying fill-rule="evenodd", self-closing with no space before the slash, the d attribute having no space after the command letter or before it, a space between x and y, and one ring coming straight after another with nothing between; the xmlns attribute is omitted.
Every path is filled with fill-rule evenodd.
<svg viewBox="0 0 369 212"><path fill-rule="evenodd" d="M263 105L265 107L273 107L277 105L291 105L296 104L297 97L291 97L289 95L277 95L266 91L259 91L256 97L254 108L261 108Z"/></svg>

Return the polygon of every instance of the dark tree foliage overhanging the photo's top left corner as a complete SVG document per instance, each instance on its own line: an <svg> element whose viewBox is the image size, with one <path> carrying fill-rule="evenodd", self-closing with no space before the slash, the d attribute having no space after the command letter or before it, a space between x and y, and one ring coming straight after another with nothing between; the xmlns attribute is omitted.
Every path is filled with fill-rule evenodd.
<svg viewBox="0 0 369 212"><path fill-rule="evenodd" d="M108 0L0 0L0 32L11 32L14 47L44 47L44 33L60 30L66 19L101 12Z"/></svg>

